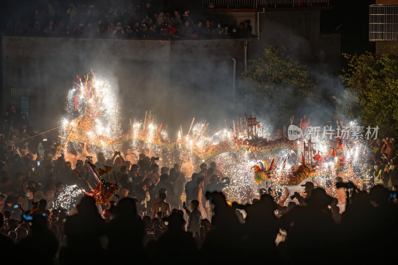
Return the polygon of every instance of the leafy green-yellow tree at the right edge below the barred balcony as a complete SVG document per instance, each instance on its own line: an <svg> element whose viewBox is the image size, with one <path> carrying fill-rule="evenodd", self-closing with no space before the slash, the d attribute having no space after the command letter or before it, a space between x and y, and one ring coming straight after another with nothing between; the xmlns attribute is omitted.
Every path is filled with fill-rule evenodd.
<svg viewBox="0 0 398 265"><path fill-rule="evenodd" d="M348 69L341 79L346 86L336 101L334 114L359 118L364 126L379 126L383 135L398 129L398 57L390 54L343 54Z"/></svg>

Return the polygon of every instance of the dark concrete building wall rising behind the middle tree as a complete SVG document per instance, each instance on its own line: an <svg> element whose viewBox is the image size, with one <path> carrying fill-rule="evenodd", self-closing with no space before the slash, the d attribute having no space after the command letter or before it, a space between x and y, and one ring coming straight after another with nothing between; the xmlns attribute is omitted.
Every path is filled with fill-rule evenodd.
<svg viewBox="0 0 398 265"><path fill-rule="evenodd" d="M260 56L264 47L285 45L301 62L328 65L328 72L339 75L340 35L319 34L320 10L267 11L260 13L260 42L249 41L250 58Z"/></svg>

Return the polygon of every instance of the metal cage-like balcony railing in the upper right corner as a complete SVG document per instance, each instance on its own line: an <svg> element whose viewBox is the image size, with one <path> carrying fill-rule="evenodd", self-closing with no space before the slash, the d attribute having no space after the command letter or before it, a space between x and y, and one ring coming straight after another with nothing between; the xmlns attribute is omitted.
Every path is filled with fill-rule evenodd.
<svg viewBox="0 0 398 265"><path fill-rule="evenodd" d="M398 40L398 4L369 6L369 40Z"/></svg>

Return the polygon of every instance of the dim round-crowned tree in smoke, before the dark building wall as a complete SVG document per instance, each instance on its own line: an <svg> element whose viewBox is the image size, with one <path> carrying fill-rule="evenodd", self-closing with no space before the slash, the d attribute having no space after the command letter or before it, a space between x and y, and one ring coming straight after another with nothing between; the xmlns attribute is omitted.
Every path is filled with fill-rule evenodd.
<svg viewBox="0 0 398 265"><path fill-rule="evenodd" d="M311 98L315 88L305 66L293 60L284 46L265 49L262 57L251 61L241 78L246 109L269 113L267 118L276 123L299 115L299 106Z"/></svg>

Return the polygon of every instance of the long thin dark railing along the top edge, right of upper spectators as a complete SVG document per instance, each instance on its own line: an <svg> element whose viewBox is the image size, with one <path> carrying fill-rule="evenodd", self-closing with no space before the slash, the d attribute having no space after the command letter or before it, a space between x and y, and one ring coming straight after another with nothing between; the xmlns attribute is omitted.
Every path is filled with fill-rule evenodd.
<svg viewBox="0 0 398 265"><path fill-rule="evenodd" d="M329 0L202 0L209 8L302 7L329 5Z"/></svg>

